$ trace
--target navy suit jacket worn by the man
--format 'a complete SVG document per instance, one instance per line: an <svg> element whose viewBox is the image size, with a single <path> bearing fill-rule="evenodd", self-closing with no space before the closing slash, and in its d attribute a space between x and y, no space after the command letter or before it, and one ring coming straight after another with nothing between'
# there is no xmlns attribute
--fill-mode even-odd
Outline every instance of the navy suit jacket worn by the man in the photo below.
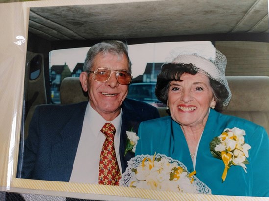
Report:
<svg viewBox="0 0 269 201"><path fill-rule="evenodd" d="M38 106L24 142L21 178L69 181L82 131L88 101L71 105ZM158 110L141 101L125 99L122 103L120 158L122 171L134 154L126 147L126 131L137 133L141 121L159 117Z"/></svg>

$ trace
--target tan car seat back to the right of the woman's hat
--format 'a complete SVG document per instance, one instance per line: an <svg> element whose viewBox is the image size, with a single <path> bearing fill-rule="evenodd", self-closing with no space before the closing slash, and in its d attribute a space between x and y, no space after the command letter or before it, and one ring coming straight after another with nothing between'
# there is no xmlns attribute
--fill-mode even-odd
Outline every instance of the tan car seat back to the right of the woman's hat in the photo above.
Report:
<svg viewBox="0 0 269 201"><path fill-rule="evenodd" d="M269 135L269 77L228 76L232 99L223 111L263 126Z"/></svg>

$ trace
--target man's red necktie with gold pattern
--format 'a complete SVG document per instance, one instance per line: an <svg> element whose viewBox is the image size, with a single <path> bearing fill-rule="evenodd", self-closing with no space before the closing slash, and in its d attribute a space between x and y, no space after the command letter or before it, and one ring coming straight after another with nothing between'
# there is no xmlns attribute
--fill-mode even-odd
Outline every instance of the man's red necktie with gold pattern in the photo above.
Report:
<svg viewBox="0 0 269 201"><path fill-rule="evenodd" d="M98 183L103 185L119 185L121 172L118 166L114 146L116 129L112 123L106 123L102 127L101 132L106 136L106 139L100 156Z"/></svg>

